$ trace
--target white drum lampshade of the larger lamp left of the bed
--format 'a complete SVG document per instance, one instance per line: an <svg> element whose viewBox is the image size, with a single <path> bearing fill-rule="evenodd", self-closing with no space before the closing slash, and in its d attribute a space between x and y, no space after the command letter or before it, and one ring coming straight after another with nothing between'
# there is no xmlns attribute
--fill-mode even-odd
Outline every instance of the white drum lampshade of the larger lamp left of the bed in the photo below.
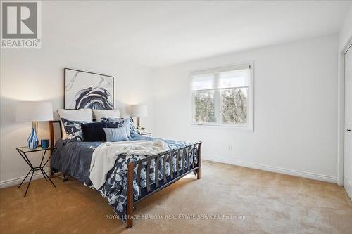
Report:
<svg viewBox="0 0 352 234"><path fill-rule="evenodd" d="M37 122L53 120L53 105L50 102L20 101L16 106L16 121Z"/></svg>

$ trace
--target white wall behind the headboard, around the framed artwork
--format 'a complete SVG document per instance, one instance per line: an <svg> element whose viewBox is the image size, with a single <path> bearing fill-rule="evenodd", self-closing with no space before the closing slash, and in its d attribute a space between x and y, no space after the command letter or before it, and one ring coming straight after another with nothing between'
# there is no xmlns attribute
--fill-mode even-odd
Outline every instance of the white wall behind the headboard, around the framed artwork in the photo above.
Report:
<svg viewBox="0 0 352 234"><path fill-rule="evenodd" d="M63 11L61 11L63 12ZM42 22L51 20L56 13L54 6L45 3L42 6ZM65 15L67 18L68 15ZM66 19L67 20L67 19ZM73 19L74 20L74 19ZM52 22L52 23L55 23ZM0 187L20 182L29 167L15 151L25 145L30 134L31 123L15 122L15 103L18 100L49 100L56 110L63 108L63 68L72 67L111 74L115 76L115 108L123 113L125 105L146 103L149 111L153 103L148 98L150 92L151 69L124 58L116 53L100 53L99 48L85 46L84 37L81 44L56 39L56 34L70 34L65 27L43 23L41 49L1 49L1 133L0 133ZM60 31L55 29L60 28ZM113 41L111 41L112 43ZM152 129L151 118L142 119L142 124ZM39 138L48 138L47 122L39 124ZM39 164L40 155L32 154L30 159Z"/></svg>

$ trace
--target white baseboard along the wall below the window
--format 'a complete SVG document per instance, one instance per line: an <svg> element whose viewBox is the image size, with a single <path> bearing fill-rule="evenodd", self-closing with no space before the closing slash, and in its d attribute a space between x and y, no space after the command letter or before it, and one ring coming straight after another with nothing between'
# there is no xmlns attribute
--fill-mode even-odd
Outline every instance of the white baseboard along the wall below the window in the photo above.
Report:
<svg viewBox="0 0 352 234"><path fill-rule="evenodd" d="M244 162L241 160L228 160L225 158L210 159L208 157L202 157L202 159L208 160L211 162L222 162L222 163L232 164L232 165L241 166L241 167L249 167L249 168L259 169L259 170L263 170L263 171L271 171L271 172L280 173L280 174L287 174L290 176L310 178L310 179L317 180L317 181L337 183L337 177L325 176L322 174L315 174L315 173L310 173L310 172L306 172L306 171L297 171L297 170L286 169L286 168L282 168L282 167L272 167L272 166L257 164L257 163L253 163L253 162Z"/></svg>

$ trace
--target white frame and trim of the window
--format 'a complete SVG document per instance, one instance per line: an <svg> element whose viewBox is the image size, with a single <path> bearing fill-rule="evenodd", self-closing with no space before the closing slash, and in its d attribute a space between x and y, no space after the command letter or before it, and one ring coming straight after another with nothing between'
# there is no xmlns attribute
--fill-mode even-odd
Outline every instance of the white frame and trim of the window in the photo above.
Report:
<svg viewBox="0 0 352 234"><path fill-rule="evenodd" d="M248 86L248 96L247 96L247 123L246 124L220 124L220 123L197 123L193 122L194 119L194 92L191 89L191 82L192 77L197 74L208 74L208 73L215 73L215 72L226 72L230 70L237 70L238 67L243 67L249 65L249 86ZM216 79L218 80L218 79ZM222 67L211 67L201 70L193 70L189 74L189 84L190 84L190 103L191 103L191 125L192 126L220 126L220 127L230 127L234 129L244 130L244 131L254 131L254 62L246 62L246 63L236 63L231 65L225 65ZM238 87L241 88L241 87ZM220 101L220 89L215 89L214 93L214 102L215 106L219 106ZM217 104L218 103L218 104ZM215 108L215 118L220 118L219 110Z"/></svg>

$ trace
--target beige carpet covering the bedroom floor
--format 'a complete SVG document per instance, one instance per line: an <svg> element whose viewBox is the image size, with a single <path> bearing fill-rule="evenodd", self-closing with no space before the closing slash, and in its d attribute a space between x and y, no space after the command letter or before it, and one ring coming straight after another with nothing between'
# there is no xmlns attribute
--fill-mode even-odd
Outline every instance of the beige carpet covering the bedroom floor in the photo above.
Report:
<svg viewBox="0 0 352 234"><path fill-rule="evenodd" d="M200 181L187 176L139 203L141 217L130 229L109 219L106 200L75 180L54 178L57 188L33 181L27 197L25 186L4 188L0 232L352 233L352 202L336 184L210 162L202 172ZM142 219L148 214L179 219ZM224 214L230 219L218 219Z"/></svg>

